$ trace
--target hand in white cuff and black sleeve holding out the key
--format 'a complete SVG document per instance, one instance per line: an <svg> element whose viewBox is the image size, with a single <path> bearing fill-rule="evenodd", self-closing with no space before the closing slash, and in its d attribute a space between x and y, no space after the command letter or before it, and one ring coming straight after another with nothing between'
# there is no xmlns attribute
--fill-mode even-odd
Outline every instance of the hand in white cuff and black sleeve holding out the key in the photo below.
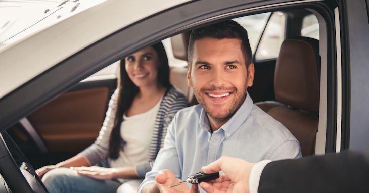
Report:
<svg viewBox="0 0 369 193"><path fill-rule="evenodd" d="M223 171L218 179L209 182L201 182L200 186L207 192L245 192L249 193L249 176L254 163L245 160L221 157L217 161L202 167L205 173Z"/></svg>

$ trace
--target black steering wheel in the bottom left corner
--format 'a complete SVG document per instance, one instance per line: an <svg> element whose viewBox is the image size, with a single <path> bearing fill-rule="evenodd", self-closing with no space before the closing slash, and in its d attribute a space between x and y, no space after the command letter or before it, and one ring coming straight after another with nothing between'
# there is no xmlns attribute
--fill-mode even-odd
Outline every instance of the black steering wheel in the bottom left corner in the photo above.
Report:
<svg viewBox="0 0 369 193"><path fill-rule="evenodd" d="M5 179L6 192L7 188L12 192L48 192L27 158L6 132L0 134L0 174Z"/></svg>

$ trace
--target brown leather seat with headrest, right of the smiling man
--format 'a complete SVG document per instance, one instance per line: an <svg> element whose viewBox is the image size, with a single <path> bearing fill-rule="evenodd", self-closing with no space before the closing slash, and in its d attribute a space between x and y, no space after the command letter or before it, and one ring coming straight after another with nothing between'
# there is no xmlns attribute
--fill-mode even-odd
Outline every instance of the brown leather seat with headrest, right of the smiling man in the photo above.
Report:
<svg viewBox="0 0 369 193"><path fill-rule="evenodd" d="M275 66L276 101L256 103L280 121L300 142L303 156L313 155L319 122L319 41L286 39Z"/></svg>

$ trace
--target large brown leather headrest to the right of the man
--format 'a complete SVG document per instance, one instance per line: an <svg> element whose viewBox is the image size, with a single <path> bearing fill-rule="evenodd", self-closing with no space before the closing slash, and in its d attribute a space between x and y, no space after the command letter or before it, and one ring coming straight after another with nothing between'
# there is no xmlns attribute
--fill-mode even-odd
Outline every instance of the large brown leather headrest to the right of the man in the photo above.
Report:
<svg viewBox="0 0 369 193"><path fill-rule="evenodd" d="M308 37L286 39L276 61L275 99L293 108L319 111L319 41Z"/></svg>

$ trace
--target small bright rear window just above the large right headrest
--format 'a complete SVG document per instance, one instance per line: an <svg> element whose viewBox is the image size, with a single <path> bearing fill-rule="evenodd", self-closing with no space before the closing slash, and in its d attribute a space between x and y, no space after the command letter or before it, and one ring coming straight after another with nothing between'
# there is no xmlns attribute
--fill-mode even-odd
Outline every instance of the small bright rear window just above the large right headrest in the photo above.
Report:
<svg viewBox="0 0 369 193"><path fill-rule="evenodd" d="M314 14L307 15L302 20L301 36L319 40L319 23Z"/></svg>

